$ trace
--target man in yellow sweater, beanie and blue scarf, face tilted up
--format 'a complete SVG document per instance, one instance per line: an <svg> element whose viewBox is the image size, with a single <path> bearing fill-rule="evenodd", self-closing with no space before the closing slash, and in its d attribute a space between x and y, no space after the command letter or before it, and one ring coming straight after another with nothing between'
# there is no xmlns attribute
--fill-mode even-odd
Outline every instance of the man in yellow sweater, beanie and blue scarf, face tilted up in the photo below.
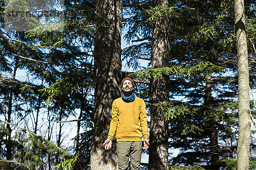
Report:
<svg viewBox="0 0 256 170"><path fill-rule="evenodd" d="M135 96L134 86L132 79L122 80L122 97L113 101L108 139L103 144L105 149L109 150L116 133L119 170L128 170L129 156L131 170L140 170L142 148L148 149L149 146L146 105L143 99Z"/></svg>

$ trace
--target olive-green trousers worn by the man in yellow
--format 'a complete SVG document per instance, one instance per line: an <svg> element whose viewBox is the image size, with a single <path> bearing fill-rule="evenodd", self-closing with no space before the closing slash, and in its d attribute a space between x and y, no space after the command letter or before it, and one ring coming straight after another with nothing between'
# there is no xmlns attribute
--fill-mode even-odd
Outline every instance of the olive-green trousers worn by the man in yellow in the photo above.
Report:
<svg viewBox="0 0 256 170"><path fill-rule="evenodd" d="M129 156L131 156L131 170L140 170L141 151L142 141L116 142L118 170L128 170Z"/></svg>

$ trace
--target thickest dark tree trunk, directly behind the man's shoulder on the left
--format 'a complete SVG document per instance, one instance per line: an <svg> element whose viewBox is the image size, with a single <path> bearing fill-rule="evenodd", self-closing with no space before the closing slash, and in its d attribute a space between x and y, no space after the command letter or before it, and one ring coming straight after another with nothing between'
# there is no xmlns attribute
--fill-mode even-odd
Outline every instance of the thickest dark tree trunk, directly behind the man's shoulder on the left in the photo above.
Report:
<svg viewBox="0 0 256 170"><path fill-rule="evenodd" d="M116 142L105 150L114 99L121 96L122 0L97 0L96 13L108 26L96 25L94 45L94 129L90 147L91 170L116 170Z"/></svg>

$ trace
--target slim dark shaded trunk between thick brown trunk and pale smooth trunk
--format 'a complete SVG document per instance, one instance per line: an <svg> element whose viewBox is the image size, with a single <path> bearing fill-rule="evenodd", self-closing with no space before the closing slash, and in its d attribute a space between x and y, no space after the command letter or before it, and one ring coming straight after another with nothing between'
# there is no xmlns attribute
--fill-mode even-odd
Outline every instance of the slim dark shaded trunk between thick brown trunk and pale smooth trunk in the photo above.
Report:
<svg viewBox="0 0 256 170"><path fill-rule="evenodd" d="M212 76L206 75L205 77L205 94L204 94L204 105L212 106ZM210 163L211 170L219 170L218 165L219 154L218 154L218 131L216 119L209 120L209 149L210 149Z"/></svg>

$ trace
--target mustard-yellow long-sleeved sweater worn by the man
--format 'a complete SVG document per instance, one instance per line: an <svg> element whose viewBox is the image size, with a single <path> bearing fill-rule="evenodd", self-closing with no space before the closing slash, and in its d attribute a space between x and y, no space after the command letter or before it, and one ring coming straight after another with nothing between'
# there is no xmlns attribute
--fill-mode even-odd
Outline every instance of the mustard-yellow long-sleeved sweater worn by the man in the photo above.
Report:
<svg viewBox="0 0 256 170"><path fill-rule="evenodd" d="M143 99L135 97L133 102L124 102L122 97L115 99L112 104L112 119L108 139L116 141L141 141L148 138L146 105Z"/></svg>

